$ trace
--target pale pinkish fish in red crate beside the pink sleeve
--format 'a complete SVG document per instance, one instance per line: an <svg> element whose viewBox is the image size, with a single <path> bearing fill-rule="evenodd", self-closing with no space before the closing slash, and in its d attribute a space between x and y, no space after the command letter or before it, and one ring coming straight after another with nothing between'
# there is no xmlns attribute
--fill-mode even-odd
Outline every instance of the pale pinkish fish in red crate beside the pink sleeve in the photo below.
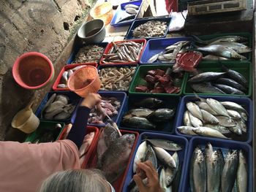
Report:
<svg viewBox="0 0 256 192"><path fill-rule="evenodd" d="M89 147L91 146L91 142L94 139L94 135L95 135L95 132L92 131L91 133L86 134L86 136L83 138L83 144L80 146L80 149L79 149L79 154L80 154L79 162L80 162L80 165L83 164L83 161L86 158L86 153L88 152Z"/></svg>

